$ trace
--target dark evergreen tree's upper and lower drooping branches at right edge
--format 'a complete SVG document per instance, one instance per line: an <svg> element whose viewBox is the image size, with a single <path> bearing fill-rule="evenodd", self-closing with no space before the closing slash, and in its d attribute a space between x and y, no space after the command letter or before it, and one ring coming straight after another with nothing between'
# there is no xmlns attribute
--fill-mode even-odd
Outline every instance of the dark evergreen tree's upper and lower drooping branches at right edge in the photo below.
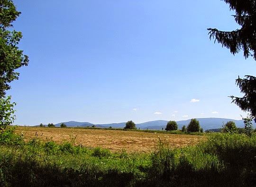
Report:
<svg viewBox="0 0 256 187"><path fill-rule="evenodd" d="M227 47L232 54L244 51L247 59L252 56L256 60L256 1L255 0L224 0L229 4L230 10L235 11L235 21L241 26L234 31L219 31L216 28L208 28L210 39L215 38L215 42ZM250 112L250 116L256 122L256 77L245 76L241 79L238 76L236 85L240 87L243 97L230 96L232 102L239 106L243 111Z"/></svg>

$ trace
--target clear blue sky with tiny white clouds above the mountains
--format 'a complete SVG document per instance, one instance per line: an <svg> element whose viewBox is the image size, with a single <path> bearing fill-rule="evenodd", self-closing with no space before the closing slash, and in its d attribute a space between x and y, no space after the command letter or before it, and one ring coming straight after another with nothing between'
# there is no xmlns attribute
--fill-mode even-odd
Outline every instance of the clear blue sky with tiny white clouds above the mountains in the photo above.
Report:
<svg viewBox="0 0 256 187"><path fill-rule="evenodd" d="M256 62L209 40L239 26L220 0L14 0L29 65L11 83L18 125L241 119L228 96Z"/></svg>

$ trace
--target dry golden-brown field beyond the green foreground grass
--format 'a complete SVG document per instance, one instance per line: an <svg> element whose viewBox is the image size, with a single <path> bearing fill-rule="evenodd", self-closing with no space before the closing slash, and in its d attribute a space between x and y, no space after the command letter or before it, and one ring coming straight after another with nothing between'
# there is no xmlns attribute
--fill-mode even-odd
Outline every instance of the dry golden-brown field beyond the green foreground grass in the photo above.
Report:
<svg viewBox="0 0 256 187"><path fill-rule="evenodd" d="M167 141L170 147L184 147L196 144L203 136L171 135L160 133L133 132L106 129L56 128L56 127L16 127L15 134L25 137L25 140L38 138L42 141L53 140L56 143L75 142L87 147L102 147L112 152L125 149L128 153L154 150L159 138Z"/></svg>

